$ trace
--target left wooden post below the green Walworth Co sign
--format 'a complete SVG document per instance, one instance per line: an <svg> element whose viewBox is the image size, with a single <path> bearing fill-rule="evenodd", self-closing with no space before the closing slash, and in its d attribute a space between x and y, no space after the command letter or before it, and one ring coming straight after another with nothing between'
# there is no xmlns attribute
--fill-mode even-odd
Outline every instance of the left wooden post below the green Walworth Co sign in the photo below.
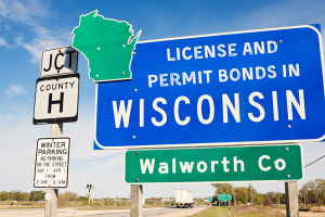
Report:
<svg viewBox="0 0 325 217"><path fill-rule="evenodd" d="M131 184L130 217L142 217L142 184Z"/></svg>

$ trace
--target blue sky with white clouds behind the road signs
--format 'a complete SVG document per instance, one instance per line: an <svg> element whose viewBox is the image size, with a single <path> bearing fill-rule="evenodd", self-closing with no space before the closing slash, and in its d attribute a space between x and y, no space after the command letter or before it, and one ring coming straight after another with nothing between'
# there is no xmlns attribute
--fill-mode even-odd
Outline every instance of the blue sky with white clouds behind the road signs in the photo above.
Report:
<svg viewBox="0 0 325 217"><path fill-rule="evenodd" d="M72 30L79 16L99 10L106 18L128 21L141 40L251 30L306 24L325 26L325 2L285 0L214 1L40 1L0 0L0 191L31 191L36 141L50 136L50 125L32 125L36 80L46 49L72 44ZM324 37L323 37L324 40ZM125 150L93 150L95 85L89 80L88 62L79 55L79 118L64 124L63 136L72 138L69 187L93 196L129 196L123 182ZM304 164L325 154L324 142L303 143ZM325 178L325 159L309 166L298 188ZM247 187L248 182L235 183ZM259 192L284 192L284 182L255 182ZM144 197L174 196L176 189L188 189L195 197L213 194L208 183L144 186Z"/></svg>

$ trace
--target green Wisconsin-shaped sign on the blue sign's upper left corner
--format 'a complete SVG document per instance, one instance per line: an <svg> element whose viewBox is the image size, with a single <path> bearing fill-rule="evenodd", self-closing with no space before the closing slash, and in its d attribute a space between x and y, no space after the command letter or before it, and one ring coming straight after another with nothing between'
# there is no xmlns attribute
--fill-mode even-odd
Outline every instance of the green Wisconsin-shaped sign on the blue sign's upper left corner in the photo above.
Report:
<svg viewBox="0 0 325 217"><path fill-rule="evenodd" d="M131 79L131 62L135 43L128 22L104 18L98 10L80 16L73 30L73 47L88 60L89 78L94 82Z"/></svg>

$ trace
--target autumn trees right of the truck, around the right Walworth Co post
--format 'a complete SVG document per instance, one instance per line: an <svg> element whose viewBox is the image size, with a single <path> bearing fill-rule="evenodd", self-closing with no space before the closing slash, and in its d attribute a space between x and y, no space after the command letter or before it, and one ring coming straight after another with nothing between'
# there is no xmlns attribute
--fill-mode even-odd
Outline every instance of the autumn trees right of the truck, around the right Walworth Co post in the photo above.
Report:
<svg viewBox="0 0 325 217"><path fill-rule="evenodd" d="M233 203L247 204L250 203L249 187L235 187L232 189L227 183L213 183L216 188L213 202L217 201L218 194L232 194ZM280 192L266 192L259 193L253 187L251 187L252 203L257 205L272 206L273 204L285 204L286 194ZM303 203L304 196L307 203L324 203L325 202L325 179L315 179L309 181L302 186L299 190L298 199L300 203Z"/></svg>

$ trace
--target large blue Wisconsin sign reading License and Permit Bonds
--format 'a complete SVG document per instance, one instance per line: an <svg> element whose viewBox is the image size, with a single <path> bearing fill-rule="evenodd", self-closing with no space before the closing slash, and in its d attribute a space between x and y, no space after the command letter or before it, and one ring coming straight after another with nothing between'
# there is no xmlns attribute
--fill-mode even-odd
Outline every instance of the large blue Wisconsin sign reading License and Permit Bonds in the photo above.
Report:
<svg viewBox="0 0 325 217"><path fill-rule="evenodd" d="M324 139L320 25L141 41L131 71L96 85L94 149Z"/></svg>

